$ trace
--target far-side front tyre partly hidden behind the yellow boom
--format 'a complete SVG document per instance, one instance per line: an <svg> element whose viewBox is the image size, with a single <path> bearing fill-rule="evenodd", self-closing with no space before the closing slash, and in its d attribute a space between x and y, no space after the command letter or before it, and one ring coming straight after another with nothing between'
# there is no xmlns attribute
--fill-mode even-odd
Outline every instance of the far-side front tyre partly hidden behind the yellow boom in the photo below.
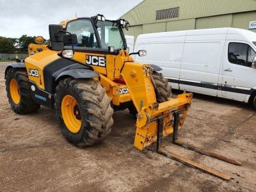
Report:
<svg viewBox="0 0 256 192"><path fill-rule="evenodd" d="M165 102L169 97L172 97L172 86L168 84L168 80L159 72L152 74L154 83L156 84L156 100L158 103ZM137 115L137 110L133 104L129 106L129 112L132 116Z"/></svg>

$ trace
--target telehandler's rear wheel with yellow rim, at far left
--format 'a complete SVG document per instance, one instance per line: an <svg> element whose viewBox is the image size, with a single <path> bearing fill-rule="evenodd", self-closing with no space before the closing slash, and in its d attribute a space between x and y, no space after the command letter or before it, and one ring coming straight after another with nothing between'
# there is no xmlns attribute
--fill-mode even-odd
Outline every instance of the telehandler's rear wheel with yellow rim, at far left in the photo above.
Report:
<svg viewBox="0 0 256 192"><path fill-rule="evenodd" d="M9 103L15 113L32 113L40 108L40 104L36 104L32 99L25 70L10 68L6 73L5 84Z"/></svg>

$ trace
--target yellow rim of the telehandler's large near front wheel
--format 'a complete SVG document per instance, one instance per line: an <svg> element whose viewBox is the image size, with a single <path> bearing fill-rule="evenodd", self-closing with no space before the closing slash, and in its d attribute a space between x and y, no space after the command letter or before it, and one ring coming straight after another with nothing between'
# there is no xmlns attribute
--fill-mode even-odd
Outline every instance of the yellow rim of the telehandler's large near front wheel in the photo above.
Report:
<svg viewBox="0 0 256 192"><path fill-rule="evenodd" d="M80 109L76 99L71 95L63 97L61 101L61 115L70 132L76 133L80 130L82 124Z"/></svg>

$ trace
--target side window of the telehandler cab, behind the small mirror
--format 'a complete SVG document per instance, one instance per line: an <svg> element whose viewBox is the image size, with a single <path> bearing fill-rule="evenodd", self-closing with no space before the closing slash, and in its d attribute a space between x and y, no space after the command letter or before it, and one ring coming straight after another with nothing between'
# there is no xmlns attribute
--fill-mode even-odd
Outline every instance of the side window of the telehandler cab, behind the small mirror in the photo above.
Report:
<svg viewBox="0 0 256 192"><path fill-rule="evenodd" d="M67 31L77 36L74 47L98 48L92 22L88 19L79 19L68 22Z"/></svg>

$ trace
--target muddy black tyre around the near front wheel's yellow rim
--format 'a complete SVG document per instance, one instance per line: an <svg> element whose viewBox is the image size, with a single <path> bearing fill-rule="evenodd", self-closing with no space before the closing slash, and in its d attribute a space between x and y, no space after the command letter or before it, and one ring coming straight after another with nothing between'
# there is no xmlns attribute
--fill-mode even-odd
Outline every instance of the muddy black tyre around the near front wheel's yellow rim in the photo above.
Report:
<svg viewBox="0 0 256 192"><path fill-rule="evenodd" d="M77 94L79 104L85 112L85 120L82 122L83 134L77 142L72 139L72 132L67 130L61 116L60 93L70 90ZM68 141L78 147L95 145L104 140L110 133L113 125L113 109L110 106L111 99L106 95L99 81L93 79L63 79L56 87L54 95L56 101L56 116L61 124L61 130Z"/></svg>

